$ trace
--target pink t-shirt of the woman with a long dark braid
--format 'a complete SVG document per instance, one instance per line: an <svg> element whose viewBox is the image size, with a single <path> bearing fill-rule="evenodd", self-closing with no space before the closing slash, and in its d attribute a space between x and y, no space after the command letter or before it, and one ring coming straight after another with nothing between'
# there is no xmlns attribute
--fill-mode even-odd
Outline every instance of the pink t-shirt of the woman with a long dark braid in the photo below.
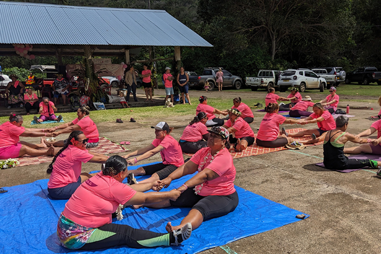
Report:
<svg viewBox="0 0 381 254"><path fill-rule="evenodd" d="M93 157L89 151L69 145L54 162L48 187L52 189L76 183L82 171L82 162L86 163Z"/></svg>

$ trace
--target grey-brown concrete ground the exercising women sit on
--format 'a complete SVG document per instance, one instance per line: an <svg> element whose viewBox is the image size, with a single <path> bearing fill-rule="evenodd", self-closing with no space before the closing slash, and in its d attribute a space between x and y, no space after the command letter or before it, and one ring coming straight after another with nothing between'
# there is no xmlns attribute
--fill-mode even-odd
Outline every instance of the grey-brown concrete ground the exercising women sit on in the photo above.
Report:
<svg viewBox="0 0 381 254"><path fill-rule="evenodd" d="M191 90L190 93L191 96L205 94L210 100L239 96L243 102L247 97L265 96L265 92L242 93L236 90L222 93L213 91L207 94ZM310 95L315 101L324 97L318 92L302 95ZM350 99L353 97L342 96L340 105L346 106L349 103L353 107L374 108L350 110L350 114L356 116L350 118L348 131L357 134L371 125L373 121L365 117L376 115L379 106L376 103L377 96L366 98L373 99L370 104L351 102ZM255 132L263 115L263 112L255 112L255 122L250 124ZM103 122L97 125L100 135L114 141L130 141L131 145L128 148L136 150L150 144L154 139L151 125L160 120L167 121L170 126L175 127L172 135L178 140L193 116L194 112L190 112L189 115L181 117L169 115L166 119L151 118L136 123ZM284 126L291 129L300 125ZM316 125L309 124L304 128L313 129ZM66 136L60 138L64 139ZM37 138L22 140L39 141ZM121 155L123 154L126 153ZM302 151L287 150L235 159L237 186L311 216L303 221L231 242L227 244L230 250L216 247L203 253L379 253L381 220L378 218L378 212L381 211L381 197L378 191L381 179L375 177L374 170L344 174L315 166L315 163L322 161L322 157L323 147L314 146ZM142 163L159 160L160 155L155 155ZM48 164L41 164L1 170L0 186L19 185L48 178L45 173L47 166ZM85 172L96 169L100 169L99 165L83 165ZM224 248L226 249L226 246Z"/></svg>

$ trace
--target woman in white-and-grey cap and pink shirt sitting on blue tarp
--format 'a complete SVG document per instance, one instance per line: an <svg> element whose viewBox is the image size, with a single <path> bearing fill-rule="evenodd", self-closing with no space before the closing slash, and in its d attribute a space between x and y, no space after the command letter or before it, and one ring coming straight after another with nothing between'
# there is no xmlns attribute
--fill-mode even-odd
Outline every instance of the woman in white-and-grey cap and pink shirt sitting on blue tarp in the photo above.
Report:
<svg viewBox="0 0 381 254"><path fill-rule="evenodd" d="M134 176L152 175L150 178L143 180L141 183L151 183L156 180L162 180L184 164L181 147L179 143L170 135L173 128L169 128L168 123L165 121L161 121L156 126L151 126L151 128L155 129L156 136L156 139L152 142L152 144L123 156L125 159L137 156L128 161L129 165L134 165L160 152L163 160L162 163L140 167L136 170L129 171L129 179L134 179ZM130 181L129 183L131 184L132 182Z"/></svg>

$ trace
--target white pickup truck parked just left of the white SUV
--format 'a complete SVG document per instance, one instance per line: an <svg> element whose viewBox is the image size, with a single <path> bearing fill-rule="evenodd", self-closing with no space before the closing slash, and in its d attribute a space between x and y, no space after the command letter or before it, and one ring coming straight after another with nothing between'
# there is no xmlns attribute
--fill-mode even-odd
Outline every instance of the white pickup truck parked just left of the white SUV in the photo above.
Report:
<svg viewBox="0 0 381 254"><path fill-rule="evenodd" d="M250 86L251 91L257 91L258 88L269 90L271 87L279 87L278 79L282 71L260 70L258 77L246 77L246 86Z"/></svg>

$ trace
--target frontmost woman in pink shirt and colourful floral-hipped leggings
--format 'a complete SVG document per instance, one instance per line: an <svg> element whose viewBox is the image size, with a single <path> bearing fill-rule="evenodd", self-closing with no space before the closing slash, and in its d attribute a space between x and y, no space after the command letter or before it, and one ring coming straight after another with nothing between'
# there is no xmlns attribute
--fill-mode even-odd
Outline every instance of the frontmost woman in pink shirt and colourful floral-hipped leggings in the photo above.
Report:
<svg viewBox="0 0 381 254"><path fill-rule="evenodd" d="M86 180L74 192L58 219L57 236L64 247L93 250L118 245L131 248L177 246L190 237L191 223L168 233L156 233L112 223L115 211L117 219L123 219L123 205L176 200L181 193L179 190L144 193L161 189L159 181L131 186L123 184L122 181L128 175L126 169L125 159L114 155L106 161L101 172ZM166 228L171 228L171 224L168 223Z"/></svg>

